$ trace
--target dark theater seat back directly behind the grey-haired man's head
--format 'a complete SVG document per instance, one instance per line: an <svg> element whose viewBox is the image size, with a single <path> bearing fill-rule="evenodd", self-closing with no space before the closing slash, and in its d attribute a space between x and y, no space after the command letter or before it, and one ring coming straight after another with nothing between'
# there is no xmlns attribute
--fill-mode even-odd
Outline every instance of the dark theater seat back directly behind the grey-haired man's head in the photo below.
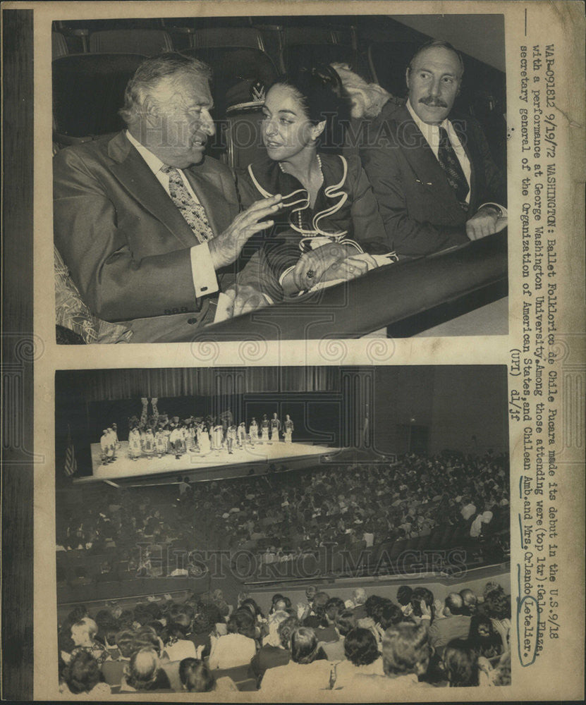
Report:
<svg viewBox="0 0 586 705"><path fill-rule="evenodd" d="M93 140L124 127L118 110L124 90L145 56L71 54L53 62L54 141Z"/></svg>

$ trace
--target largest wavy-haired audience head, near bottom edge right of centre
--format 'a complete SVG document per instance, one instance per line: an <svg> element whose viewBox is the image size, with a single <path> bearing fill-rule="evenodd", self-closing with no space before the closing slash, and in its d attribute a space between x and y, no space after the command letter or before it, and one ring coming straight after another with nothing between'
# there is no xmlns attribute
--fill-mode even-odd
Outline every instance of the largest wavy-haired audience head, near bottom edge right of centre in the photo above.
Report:
<svg viewBox="0 0 586 705"><path fill-rule="evenodd" d="M423 675L429 664L427 626L401 623L384 632L383 669L386 675Z"/></svg>

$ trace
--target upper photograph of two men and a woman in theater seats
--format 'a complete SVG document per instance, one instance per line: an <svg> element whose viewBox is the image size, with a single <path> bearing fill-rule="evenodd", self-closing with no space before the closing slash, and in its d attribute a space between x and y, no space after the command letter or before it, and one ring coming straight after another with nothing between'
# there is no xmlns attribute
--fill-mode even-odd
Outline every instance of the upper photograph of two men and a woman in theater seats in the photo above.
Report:
<svg viewBox="0 0 586 705"><path fill-rule="evenodd" d="M501 14L52 23L56 341L508 334Z"/></svg>

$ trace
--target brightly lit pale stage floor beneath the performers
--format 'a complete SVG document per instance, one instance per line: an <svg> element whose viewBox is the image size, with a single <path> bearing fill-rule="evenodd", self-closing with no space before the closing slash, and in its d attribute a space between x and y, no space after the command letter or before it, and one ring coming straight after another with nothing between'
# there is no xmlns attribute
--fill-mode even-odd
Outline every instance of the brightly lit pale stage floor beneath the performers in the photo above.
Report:
<svg viewBox="0 0 586 705"><path fill-rule="evenodd" d="M88 482L92 480L114 480L123 477L139 477L145 475L157 475L168 473L189 473L197 477L203 474L205 477L214 468L222 468L223 477L230 477L226 470L233 469L234 476L245 474L243 471L248 467L257 465L269 465L274 463L277 467L286 461L306 459L317 459L320 455L335 453L338 448L326 448L324 446L310 446L305 443L283 443L282 441L255 443L251 446L247 443L243 448L234 446L233 453L228 450L210 450L205 455L200 453L185 453L181 458L174 455L164 455L162 458L138 458L132 460L128 455L128 442L122 441L121 448L116 453L116 460L107 465L102 464L102 448L99 443L92 443L92 470L91 477L80 477L76 482ZM194 472L195 471L195 472ZM201 472L198 472L201 471ZM262 472L262 469L260 470ZM212 473L216 474L216 473ZM202 478L203 479L203 478ZM210 478L211 479L211 478Z"/></svg>

